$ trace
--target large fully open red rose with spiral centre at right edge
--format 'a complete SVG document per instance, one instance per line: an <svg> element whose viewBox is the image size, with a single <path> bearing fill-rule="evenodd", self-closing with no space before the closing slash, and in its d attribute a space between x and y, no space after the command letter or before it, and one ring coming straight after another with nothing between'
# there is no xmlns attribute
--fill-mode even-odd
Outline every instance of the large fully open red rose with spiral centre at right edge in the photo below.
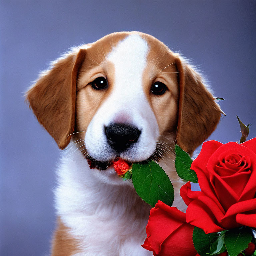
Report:
<svg viewBox="0 0 256 256"><path fill-rule="evenodd" d="M181 187L187 222L205 233L256 227L256 138L242 144L207 141L191 169L201 192L191 191L190 182Z"/></svg>

